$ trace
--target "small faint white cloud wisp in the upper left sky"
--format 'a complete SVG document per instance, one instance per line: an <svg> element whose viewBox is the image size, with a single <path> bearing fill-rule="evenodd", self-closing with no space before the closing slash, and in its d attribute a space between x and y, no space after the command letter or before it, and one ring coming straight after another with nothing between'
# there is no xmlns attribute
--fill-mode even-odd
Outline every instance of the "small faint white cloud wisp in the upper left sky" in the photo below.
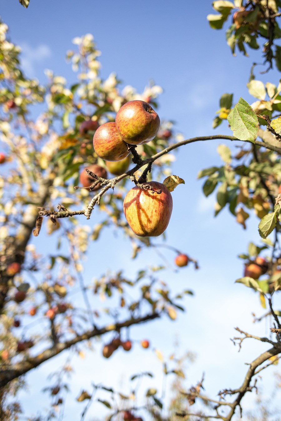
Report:
<svg viewBox="0 0 281 421"><path fill-rule="evenodd" d="M29 77L35 76L35 67L45 59L51 57L51 49L46 44L35 47L29 43L21 43L21 66Z"/></svg>

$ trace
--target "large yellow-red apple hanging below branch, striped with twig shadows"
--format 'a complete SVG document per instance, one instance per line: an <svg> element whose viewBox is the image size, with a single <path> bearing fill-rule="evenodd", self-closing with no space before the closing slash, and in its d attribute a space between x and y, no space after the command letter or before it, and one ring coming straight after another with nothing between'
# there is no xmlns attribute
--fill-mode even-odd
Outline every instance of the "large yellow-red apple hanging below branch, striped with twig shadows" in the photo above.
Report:
<svg viewBox="0 0 281 421"><path fill-rule="evenodd" d="M146 184L146 183L144 183ZM158 237L167 228L173 209L173 199L164 184L150 181L150 186L161 190L158 195L151 190L133 187L123 202L126 220L132 231L140 237Z"/></svg>

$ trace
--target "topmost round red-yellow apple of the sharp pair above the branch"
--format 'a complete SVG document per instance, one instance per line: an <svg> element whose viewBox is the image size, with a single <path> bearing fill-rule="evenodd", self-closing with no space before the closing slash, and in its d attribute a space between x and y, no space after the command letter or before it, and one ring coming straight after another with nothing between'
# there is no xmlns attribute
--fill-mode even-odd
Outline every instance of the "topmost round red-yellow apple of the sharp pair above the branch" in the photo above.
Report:
<svg viewBox="0 0 281 421"><path fill-rule="evenodd" d="M155 138L160 127L157 112L145 101L129 101L116 114L115 123L122 139L130 145L143 145Z"/></svg>

